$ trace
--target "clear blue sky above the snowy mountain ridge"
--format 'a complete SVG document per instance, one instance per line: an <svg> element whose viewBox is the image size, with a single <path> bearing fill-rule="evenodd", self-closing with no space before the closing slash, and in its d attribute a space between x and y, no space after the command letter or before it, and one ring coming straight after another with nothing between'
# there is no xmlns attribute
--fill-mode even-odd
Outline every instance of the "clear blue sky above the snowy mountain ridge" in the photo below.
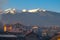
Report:
<svg viewBox="0 0 60 40"><path fill-rule="evenodd" d="M60 12L60 0L6 0L2 9L16 8L22 9L46 9Z"/></svg>

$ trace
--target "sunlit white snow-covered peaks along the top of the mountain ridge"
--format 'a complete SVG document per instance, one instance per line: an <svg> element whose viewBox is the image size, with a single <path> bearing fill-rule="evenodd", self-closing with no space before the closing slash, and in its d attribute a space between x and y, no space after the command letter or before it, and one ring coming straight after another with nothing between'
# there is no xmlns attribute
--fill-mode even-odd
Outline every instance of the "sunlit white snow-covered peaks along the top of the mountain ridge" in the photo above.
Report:
<svg viewBox="0 0 60 40"><path fill-rule="evenodd" d="M45 12L46 10L42 10L42 9L31 9L31 10L27 10L27 9L23 9L23 10L20 10L20 13L24 13L24 12L29 12L29 13L36 13L36 12ZM8 8L6 10L4 10L4 13L7 14L7 13L11 13L11 14L15 14L16 12L18 12L15 8Z"/></svg>

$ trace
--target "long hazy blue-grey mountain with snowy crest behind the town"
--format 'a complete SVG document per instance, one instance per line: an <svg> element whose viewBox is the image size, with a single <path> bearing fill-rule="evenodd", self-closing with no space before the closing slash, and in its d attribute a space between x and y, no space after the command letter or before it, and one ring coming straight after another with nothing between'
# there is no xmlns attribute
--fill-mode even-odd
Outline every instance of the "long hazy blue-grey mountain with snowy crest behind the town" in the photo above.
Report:
<svg viewBox="0 0 60 40"><path fill-rule="evenodd" d="M60 13L48 10L32 9L32 10L19 10L9 9L16 11L3 13L1 15L1 22L3 23L23 23L25 25L60 25ZM5 10L6 11L6 10ZM13 14L13 15L12 15Z"/></svg>

